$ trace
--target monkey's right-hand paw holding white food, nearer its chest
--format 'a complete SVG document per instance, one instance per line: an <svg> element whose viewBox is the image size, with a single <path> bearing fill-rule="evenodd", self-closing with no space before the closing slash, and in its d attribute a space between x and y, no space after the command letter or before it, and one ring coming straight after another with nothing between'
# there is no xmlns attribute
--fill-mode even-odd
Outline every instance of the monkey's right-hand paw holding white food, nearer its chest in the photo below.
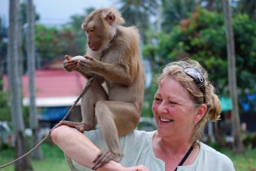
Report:
<svg viewBox="0 0 256 171"><path fill-rule="evenodd" d="M84 58L84 60L78 62L78 68L84 72L92 72L100 63L100 61L91 56L84 56Z"/></svg>

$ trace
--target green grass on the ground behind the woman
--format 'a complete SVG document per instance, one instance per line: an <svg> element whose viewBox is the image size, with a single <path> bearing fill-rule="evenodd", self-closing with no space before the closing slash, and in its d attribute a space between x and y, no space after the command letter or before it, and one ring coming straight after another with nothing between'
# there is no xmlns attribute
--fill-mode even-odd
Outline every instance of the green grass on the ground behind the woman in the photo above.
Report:
<svg viewBox="0 0 256 171"><path fill-rule="evenodd" d="M219 149L214 147L221 153L227 155L234 163L236 171L256 171L256 149L246 149L243 155L233 154L231 149ZM63 156L63 152L56 145L43 143L42 150L44 151L43 161L32 161L32 166L35 171L68 171L68 165ZM0 165L4 165L13 160L14 149L7 148L0 150ZM2 169L3 171L13 171L14 165L10 165ZM2 171L1 170L1 171Z"/></svg>

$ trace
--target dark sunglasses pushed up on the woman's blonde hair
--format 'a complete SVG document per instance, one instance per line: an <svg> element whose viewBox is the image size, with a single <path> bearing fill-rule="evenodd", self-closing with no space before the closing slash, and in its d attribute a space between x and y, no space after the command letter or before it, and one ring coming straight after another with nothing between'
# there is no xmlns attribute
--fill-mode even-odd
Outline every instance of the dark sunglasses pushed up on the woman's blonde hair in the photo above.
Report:
<svg viewBox="0 0 256 171"><path fill-rule="evenodd" d="M184 68L183 71L184 71L184 73L186 73L186 75L193 78L197 87L204 94L204 103L205 103L205 84L204 84L205 81L204 81L204 77L202 77L200 71L196 70L193 67L186 67L186 68Z"/></svg>

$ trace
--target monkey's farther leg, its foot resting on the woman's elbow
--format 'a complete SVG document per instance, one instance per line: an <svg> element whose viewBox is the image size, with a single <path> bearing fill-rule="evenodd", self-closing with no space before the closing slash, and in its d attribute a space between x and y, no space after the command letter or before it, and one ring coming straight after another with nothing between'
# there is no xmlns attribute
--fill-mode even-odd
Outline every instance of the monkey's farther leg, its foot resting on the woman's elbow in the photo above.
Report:
<svg viewBox="0 0 256 171"><path fill-rule="evenodd" d="M93 130L95 129L95 104L99 100L108 100L108 94L95 78L92 80L92 85L86 91L84 96L81 99L81 113L83 121L81 123L74 123L70 121L61 121L58 126L66 125L72 128L76 128L81 133L84 130Z"/></svg>

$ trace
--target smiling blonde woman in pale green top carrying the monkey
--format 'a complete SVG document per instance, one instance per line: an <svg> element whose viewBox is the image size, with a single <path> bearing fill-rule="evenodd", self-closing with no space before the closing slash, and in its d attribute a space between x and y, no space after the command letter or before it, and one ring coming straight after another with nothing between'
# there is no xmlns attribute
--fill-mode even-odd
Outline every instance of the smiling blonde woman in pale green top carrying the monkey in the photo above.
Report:
<svg viewBox="0 0 256 171"><path fill-rule="evenodd" d="M207 121L217 121L221 112L204 68L189 59L170 63L157 84L152 105L157 131L121 137L123 160L98 170L235 170L227 156L200 142ZM100 149L107 148L99 130L84 136L61 126L52 131L52 140L72 158L67 158L72 170L92 168Z"/></svg>

